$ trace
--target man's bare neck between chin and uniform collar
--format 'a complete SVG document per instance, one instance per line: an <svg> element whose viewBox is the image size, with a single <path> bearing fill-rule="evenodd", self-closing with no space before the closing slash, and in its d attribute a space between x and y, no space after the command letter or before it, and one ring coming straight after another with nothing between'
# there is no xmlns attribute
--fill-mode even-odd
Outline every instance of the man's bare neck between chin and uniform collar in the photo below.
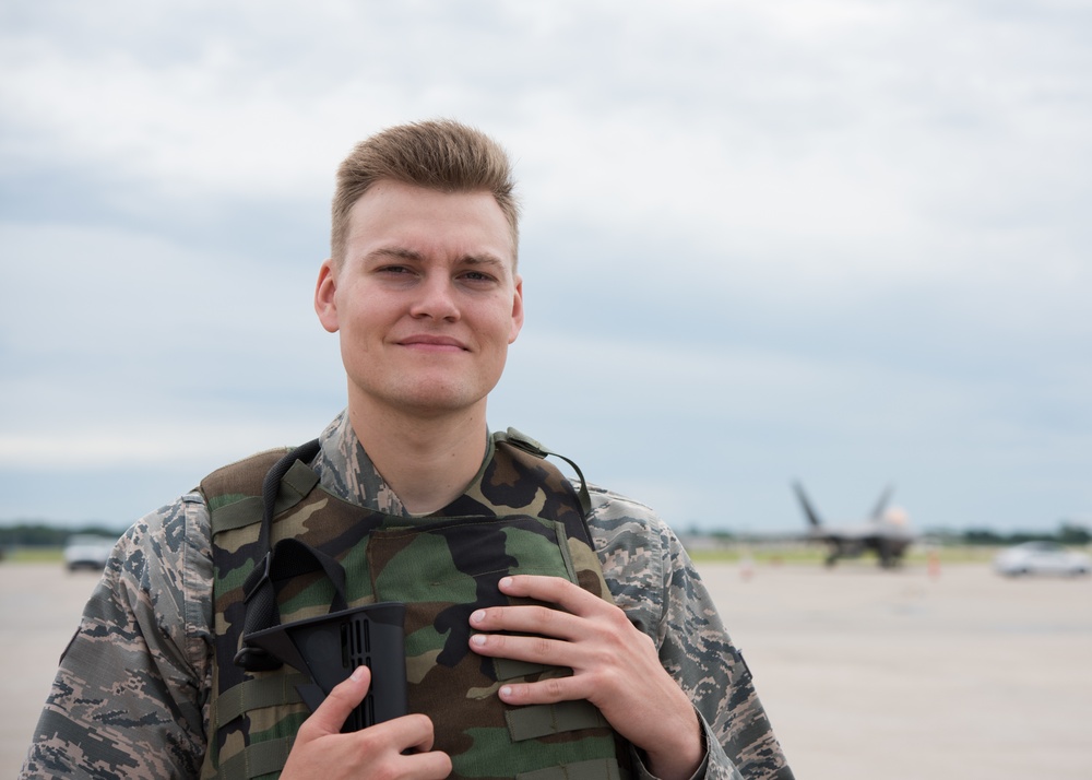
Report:
<svg viewBox="0 0 1092 780"><path fill-rule="evenodd" d="M413 515L461 496L485 458L485 404L459 415L411 417L354 409L349 423L383 481Z"/></svg>

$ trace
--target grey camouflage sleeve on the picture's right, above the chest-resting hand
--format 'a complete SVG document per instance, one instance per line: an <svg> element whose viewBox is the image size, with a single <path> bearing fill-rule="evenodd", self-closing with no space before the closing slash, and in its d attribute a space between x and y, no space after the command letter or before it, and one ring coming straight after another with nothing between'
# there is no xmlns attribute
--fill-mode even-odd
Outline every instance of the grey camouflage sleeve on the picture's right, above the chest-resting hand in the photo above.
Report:
<svg viewBox="0 0 1092 780"><path fill-rule="evenodd" d="M792 780L750 671L666 523L643 505L594 488L589 528L615 602L655 641L702 721L708 749L696 777Z"/></svg>

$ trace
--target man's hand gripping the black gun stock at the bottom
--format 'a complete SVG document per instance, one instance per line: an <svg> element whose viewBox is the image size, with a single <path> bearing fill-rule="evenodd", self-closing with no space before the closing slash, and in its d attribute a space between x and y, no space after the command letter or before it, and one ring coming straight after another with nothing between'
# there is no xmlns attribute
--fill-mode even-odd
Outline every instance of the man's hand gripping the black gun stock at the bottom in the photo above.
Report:
<svg viewBox="0 0 1092 780"><path fill-rule="evenodd" d="M432 721L408 714L342 734L345 719L371 685L371 672L357 666L353 675L330 692L325 701L304 721L296 734L282 780L317 778L414 778L441 780L451 773L451 758L432 749ZM413 751L403 755L404 751Z"/></svg>

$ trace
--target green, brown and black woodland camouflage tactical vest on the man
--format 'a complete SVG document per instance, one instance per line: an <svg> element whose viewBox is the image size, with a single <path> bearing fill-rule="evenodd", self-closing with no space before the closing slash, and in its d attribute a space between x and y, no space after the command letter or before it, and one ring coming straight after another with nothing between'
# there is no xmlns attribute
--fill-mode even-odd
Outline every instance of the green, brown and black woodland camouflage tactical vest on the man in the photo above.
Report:
<svg viewBox="0 0 1092 780"><path fill-rule="evenodd" d="M495 435L480 480L427 518L344 501L296 460L275 493L269 541L297 539L340 562L349 607L405 604L408 708L431 718L434 749L451 757L451 777L627 778L627 746L590 702L512 707L497 696L503 683L571 670L470 650L471 613L515 603L498 589L507 575L563 577L610 600L584 522L586 493L578 496L536 442L510 434ZM253 456L201 482L212 518L215 633L202 778L277 777L310 714L297 689L306 675L287 665L251 673L233 663L242 640L244 581L265 555L262 481L283 456ZM321 571L294 577L277 596L281 621L323 615L332 598Z"/></svg>

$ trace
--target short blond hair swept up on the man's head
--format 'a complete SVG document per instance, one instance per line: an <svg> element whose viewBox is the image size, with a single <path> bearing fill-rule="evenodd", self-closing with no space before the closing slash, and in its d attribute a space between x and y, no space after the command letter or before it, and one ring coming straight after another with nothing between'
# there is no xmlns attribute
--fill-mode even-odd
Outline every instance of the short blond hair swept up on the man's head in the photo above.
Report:
<svg viewBox="0 0 1092 780"><path fill-rule="evenodd" d="M511 228L513 260L518 256L520 204L508 153L480 130L435 119L382 130L342 162L331 206L330 252L335 263L345 259L353 205L384 179L440 192L489 192Z"/></svg>

